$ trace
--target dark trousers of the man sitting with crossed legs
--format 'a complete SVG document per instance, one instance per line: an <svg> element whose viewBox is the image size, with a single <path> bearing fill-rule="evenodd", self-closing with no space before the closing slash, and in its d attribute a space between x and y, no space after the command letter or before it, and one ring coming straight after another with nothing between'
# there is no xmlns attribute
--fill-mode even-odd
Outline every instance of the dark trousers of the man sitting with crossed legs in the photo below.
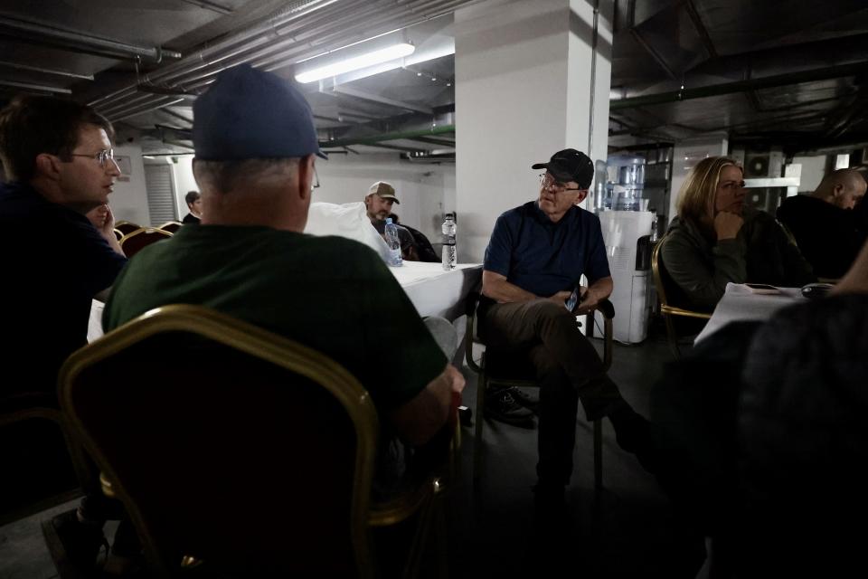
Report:
<svg viewBox="0 0 868 579"><path fill-rule="evenodd" d="M566 308L548 299L492 304L481 312L480 335L498 352L528 356L540 384L541 482L567 484L572 473L579 401L593 421L627 403Z"/></svg>

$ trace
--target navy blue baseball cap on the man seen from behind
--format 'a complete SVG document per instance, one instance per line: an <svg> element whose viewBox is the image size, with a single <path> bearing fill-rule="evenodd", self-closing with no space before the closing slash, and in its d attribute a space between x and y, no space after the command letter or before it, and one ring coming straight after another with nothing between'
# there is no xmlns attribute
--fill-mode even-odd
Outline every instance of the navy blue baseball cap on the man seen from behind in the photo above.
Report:
<svg viewBox="0 0 868 579"><path fill-rule="evenodd" d="M203 161L306 157L319 150L310 105L275 74L240 64L193 104L193 147Z"/></svg>

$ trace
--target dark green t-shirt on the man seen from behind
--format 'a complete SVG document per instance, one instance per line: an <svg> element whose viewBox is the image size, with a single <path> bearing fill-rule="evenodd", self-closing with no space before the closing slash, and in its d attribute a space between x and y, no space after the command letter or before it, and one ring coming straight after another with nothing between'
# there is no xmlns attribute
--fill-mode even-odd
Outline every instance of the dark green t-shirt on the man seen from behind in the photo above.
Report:
<svg viewBox="0 0 868 579"><path fill-rule="evenodd" d="M380 409L410 401L447 363L380 257L342 237L182 227L129 261L103 327L168 304L214 308L331 356Z"/></svg>

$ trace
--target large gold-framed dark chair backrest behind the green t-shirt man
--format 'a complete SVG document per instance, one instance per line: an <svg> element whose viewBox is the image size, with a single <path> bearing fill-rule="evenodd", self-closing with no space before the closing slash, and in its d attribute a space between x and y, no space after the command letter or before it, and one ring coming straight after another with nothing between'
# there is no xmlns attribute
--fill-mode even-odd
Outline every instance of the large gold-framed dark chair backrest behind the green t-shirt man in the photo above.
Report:
<svg viewBox="0 0 868 579"><path fill-rule="evenodd" d="M60 380L71 432L159 573L371 575L377 415L333 360L167 306L80 349Z"/></svg>

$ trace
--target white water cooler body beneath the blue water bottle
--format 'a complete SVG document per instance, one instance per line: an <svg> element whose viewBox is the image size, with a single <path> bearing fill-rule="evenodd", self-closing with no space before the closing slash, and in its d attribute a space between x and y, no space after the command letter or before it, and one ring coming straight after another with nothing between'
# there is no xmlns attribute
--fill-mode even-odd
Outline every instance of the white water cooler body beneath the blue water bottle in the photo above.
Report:
<svg viewBox="0 0 868 579"><path fill-rule="evenodd" d="M648 295L650 259L648 236L654 213L650 211L602 211L599 224L609 258L615 289L609 300L615 307L613 333L618 342L636 344L648 333L651 304ZM603 318L596 314L597 324Z"/></svg>

